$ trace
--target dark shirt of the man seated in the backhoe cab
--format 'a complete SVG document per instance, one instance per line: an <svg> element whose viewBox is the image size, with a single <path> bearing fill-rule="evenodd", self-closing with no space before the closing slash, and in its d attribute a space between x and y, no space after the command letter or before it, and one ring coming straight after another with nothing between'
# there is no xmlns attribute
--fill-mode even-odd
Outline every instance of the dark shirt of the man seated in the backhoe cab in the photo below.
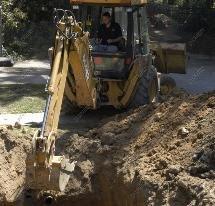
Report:
<svg viewBox="0 0 215 206"><path fill-rule="evenodd" d="M110 27L107 28L104 24L102 24L98 31L98 38L102 40L101 44L103 45L113 45L117 46L119 43L111 43L108 44L108 39L116 39L122 36L122 30L118 23L112 22Z"/></svg>

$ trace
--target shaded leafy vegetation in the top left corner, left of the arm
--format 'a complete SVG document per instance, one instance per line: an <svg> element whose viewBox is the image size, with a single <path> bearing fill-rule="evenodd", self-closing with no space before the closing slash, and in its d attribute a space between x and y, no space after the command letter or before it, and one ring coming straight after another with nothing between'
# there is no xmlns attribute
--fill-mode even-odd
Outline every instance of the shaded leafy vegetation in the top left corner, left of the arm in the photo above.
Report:
<svg viewBox="0 0 215 206"><path fill-rule="evenodd" d="M2 0L4 47L13 57L46 58L52 44L54 8L64 0Z"/></svg>

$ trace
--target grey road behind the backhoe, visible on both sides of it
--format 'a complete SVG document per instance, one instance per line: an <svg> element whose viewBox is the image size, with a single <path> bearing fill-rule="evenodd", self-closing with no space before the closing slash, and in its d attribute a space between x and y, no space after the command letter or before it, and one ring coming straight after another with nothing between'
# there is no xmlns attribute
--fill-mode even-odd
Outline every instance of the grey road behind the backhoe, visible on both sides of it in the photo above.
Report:
<svg viewBox="0 0 215 206"><path fill-rule="evenodd" d="M177 86L191 94L215 90L215 59L190 55L187 74L171 74ZM48 61L25 61L14 68L0 68L0 84L45 84L49 75Z"/></svg>

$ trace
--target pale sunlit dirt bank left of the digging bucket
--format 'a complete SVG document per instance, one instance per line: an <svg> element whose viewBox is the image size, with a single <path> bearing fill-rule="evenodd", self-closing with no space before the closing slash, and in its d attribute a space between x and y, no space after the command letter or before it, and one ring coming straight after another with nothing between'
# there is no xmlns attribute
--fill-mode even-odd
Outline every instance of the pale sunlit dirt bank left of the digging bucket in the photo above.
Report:
<svg viewBox="0 0 215 206"><path fill-rule="evenodd" d="M12 129L0 128L0 205L17 201L24 189L30 139Z"/></svg>

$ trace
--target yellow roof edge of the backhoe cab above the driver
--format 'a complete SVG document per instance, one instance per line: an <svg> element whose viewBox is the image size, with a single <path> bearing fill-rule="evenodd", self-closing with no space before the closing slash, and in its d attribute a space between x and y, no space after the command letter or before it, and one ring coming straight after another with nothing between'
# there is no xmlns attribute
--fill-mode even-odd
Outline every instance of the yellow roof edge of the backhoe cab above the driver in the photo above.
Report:
<svg viewBox="0 0 215 206"><path fill-rule="evenodd" d="M104 6L141 6L147 4L148 0L70 0L71 4L97 4Z"/></svg>

